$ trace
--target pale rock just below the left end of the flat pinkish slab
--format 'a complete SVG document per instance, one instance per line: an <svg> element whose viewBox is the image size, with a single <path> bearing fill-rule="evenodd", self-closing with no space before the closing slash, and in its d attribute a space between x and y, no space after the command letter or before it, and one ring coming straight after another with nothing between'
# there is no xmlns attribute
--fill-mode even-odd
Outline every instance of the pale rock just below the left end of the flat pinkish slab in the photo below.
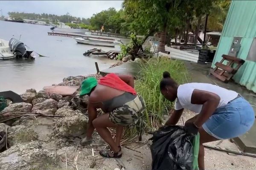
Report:
<svg viewBox="0 0 256 170"><path fill-rule="evenodd" d="M47 99L44 102L37 103L32 108L32 113L43 113L54 115L57 111L57 102L54 99Z"/></svg>

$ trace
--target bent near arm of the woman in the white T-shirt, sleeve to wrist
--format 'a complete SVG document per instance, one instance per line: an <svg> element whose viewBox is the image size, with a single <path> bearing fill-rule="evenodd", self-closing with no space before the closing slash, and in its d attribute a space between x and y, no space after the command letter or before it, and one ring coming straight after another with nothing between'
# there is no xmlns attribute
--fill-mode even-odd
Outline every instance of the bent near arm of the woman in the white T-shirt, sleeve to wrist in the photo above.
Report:
<svg viewBox="0 0 256 170"><path fill-rule="evenodd" d="M203 105L201 112L198 114L194 124L196 127L201 127L204 122L212 116L220 102L220 96L209 91L201 91L195 89L191 96L191 103Z"/></svg>

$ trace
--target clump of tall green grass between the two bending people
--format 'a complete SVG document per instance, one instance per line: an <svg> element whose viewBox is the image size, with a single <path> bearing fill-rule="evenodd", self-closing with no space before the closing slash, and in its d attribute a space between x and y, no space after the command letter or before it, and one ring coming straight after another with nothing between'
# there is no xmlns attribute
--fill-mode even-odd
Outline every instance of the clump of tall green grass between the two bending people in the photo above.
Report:
<svg viewBox="0 0 256 170"><path fill-rule="evenodd" d="M146 111L137 127L126 129L126 136L136 135L141 128L146 131L161 126L163 115L173 107L173 103L165 99L160 92L159 83L163 78L164 71L169 71L171 77L178 84L188 82L187 70L182 61L171 60L166 57L151 58L147 62L144 61L141 64L141 78L135 81L135 89L143 96Z"/></svg>

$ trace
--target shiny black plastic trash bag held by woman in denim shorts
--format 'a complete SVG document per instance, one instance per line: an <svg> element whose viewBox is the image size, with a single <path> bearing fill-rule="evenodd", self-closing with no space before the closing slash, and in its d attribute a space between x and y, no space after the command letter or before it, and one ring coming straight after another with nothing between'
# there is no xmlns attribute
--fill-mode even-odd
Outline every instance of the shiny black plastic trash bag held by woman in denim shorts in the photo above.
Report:
<svg viewBox="0 0 256 170"><path fill-rule="evenodd" d="M178 125L163 126L153 133L150 147L152 170L192 170L194 136Z"/></svg>

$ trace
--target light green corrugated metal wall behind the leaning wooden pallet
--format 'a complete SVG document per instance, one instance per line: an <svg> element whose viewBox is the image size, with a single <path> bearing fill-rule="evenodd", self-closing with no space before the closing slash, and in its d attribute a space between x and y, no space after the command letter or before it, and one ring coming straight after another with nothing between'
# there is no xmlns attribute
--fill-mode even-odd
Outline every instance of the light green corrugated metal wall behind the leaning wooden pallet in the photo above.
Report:
<svg viewBox="0 0 256 170"><path fill-rule="evenodd" d="M247 61L247 55L256 37L256 1L233 0L227 14L217 51L212 62L221 61L222 54L228 54L233 37L242 37L241 48L237 57L244 59L245 63L239 68L233 79L240 85L256 93L256 62Z"/></svg>

